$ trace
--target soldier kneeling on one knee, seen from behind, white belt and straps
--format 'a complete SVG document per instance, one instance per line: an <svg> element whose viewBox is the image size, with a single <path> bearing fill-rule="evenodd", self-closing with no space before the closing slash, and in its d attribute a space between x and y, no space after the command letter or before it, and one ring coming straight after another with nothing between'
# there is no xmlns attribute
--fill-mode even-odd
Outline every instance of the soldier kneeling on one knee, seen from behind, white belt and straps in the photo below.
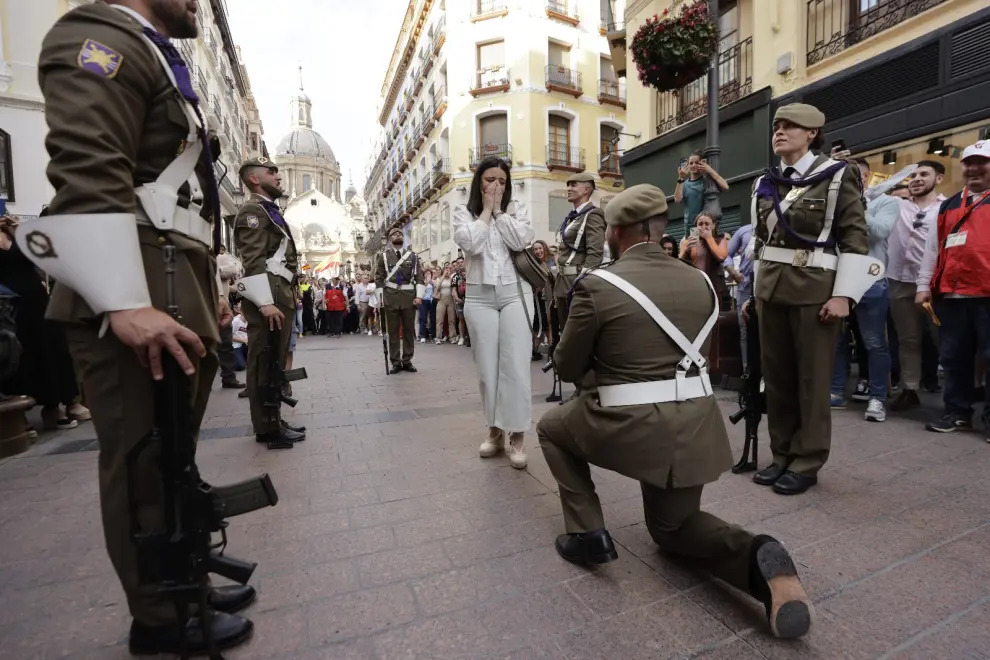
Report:
<svg viewBox="0 0 990 660"><path fill-rule="evenodd" d="M554 354L563 380L594 372L597 386L537 425L564 513L557 552L581 564L618 556L589 464L614 470L642 484L647 528L664 552L762 601L778 637L800 637L811 603L783 546L700 509L704 485L732 465L704 358L718 318L712 283L657 243L667 226L659 188L619 193L606 219L616 261L578 278Z"/></svg>

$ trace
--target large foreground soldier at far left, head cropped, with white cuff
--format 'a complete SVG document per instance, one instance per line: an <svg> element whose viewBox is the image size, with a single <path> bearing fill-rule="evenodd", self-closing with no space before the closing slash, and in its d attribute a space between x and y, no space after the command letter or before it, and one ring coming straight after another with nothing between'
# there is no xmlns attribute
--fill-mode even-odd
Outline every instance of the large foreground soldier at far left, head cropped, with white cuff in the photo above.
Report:
<svg viewBox="0 0 990 660"><path fill-rule="evenodd" d="M92 410L107 552L133 616L129 644L137 654L177 653L183 638L190 652L205 650L199 628L180 627L172 601L160 585L142 584L139 571L132 533L165 525L158 445L128 467L129 452L155 423L163 351L190 377L198 432L217 371L218 327L230 321L216 278L219 228L211 225L219 210L215 150L188 69L168 41L196 34L184 3L96 2L55 23L38 63L55 196L48 217L17 233L24 254L58 282L48 317L63 324ZM163 311L166 246L175 249L181 323ZM209 602L229 613L254 595L251 587L214 588ZM247 619L214 615L221 648L251 630Z"/></svg>

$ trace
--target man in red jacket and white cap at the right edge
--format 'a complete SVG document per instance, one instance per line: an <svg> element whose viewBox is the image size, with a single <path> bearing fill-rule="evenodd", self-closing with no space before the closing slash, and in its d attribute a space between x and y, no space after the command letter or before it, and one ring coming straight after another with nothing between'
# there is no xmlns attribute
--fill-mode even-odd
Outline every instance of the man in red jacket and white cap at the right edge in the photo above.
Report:
<svg viewBox="0 0 990 660"><path fill-rule="evenodd" d="M934 296L941 322L945 414L926 426L939 433L973 430L973 364L978 355L990 360L990 140L966 147L962 167L966 187L939 209L915 296L918 305ZM982 417L990 442L990 402Z"/></svg>

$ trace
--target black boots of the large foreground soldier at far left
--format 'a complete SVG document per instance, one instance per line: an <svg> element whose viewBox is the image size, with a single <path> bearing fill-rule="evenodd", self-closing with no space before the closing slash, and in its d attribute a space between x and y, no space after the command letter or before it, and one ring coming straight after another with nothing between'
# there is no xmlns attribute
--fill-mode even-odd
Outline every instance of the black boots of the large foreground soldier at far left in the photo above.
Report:
<svg viewBox="0 0 990 660"><path fill-rule="evenodd" d="M250 620L236 614L215 612L210 624L213 640L218 650L233 648L241 644L254 630ZM162 653L178 655L182 651L182 640L185 638L186 648L190 655L205 655L209 648L203 638L199 619L190 619L185 628L179 624L165 626L146 626L134 621L131 623L131 634L128 648L131 655L159 655Z"/></svg>

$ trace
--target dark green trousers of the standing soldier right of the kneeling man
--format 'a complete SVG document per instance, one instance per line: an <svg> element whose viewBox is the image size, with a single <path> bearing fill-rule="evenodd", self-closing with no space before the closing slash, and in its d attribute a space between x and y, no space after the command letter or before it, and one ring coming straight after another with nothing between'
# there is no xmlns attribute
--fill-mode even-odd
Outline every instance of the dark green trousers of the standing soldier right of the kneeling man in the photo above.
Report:
<svg viewBox="0 0 990 660"><path fill-rule="evenodd" d="M832 374L842 324L822 323L821 305L757 300L767 430L773 462L813 477L832 447Z"/></svg>

